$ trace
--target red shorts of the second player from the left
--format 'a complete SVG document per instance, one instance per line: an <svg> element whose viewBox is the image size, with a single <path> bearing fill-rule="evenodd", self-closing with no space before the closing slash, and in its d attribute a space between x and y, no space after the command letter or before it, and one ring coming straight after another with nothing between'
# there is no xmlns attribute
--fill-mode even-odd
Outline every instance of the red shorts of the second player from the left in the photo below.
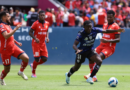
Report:
<svg viewBox="0 0 130 90"><path fill-rule="evenodd" d="M33 56L35 58L37 57L46 57L48 58L48 51L46 48L46 44L40 46L40 45L32 45L33 50Z"/></svg>

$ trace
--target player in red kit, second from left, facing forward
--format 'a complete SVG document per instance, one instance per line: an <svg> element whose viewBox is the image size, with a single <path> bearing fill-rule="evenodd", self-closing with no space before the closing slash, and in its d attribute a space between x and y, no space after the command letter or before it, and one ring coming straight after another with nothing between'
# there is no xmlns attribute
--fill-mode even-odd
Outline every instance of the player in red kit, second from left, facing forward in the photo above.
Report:
<svg viewBox="0 0 130 90"><path fill-rule="evenodd" d="M47 61L48 51L45 44L45 39L47 43L49 42L48 37L49 23L45 21L45 12L39 12L39 20L35 21L29 31L29 35L33 38L32 40L32 50L34 55L34 62L30 64L32 68L32 77L36 78L36 68L37 65L43 64ZM34 34L33 34L34 32Z"/></svg>

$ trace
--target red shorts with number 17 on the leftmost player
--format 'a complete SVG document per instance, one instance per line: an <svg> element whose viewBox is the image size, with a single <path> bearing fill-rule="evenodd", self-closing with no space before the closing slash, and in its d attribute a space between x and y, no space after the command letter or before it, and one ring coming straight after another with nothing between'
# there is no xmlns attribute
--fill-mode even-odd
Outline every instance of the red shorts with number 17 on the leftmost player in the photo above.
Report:
<svg viewBox="0 0 130 90"><path fill-rule="evenodd" d="M1 52L1 58L3 65L10 65L11 64L11 56L14 56L19 59L19 56L24 53L22 49L20 49L18 46L14 45L12 50L3 50Z"/></svg>

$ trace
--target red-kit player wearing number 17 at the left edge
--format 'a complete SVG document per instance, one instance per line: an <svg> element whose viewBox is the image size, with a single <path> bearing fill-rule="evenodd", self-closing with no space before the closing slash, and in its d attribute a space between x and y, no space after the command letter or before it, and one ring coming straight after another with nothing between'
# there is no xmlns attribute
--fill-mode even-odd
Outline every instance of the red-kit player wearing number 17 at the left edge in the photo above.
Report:
<svg viewBox="0 0 130 90"><path fill-rule="evenodd" d="M21 25L16 26L14 30L10 27L10 15L7 12L1 12L0 17L2 22L0 23L0 53L2 62L4 65L4 70L0 75L1 85L6 85L4 78L10 71L11 67L11 56L18 59L22 59L21 68L18 75L23 79L28 80L28 77L23 73L24 69L28 65L29 57L22 49L20 49L16 44L22 46L21 43L14 39L13 34L21 27ZM16 44L15 44L16 43Z"/></svg>

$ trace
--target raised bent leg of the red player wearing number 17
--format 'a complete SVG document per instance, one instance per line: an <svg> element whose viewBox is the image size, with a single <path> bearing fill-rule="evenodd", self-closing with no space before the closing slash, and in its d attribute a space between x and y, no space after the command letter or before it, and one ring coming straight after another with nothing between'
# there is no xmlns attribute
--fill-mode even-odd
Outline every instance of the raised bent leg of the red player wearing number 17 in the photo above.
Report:
<svg viewBox="0 0 130 90"><path fill-rule="evenodd" d="M18 46L15 45L14 53L12 56L22 60L18 75L21 76L24 80L28 80L28 77L23 73L25 68L28 65L28 61L29 61L28 55L22 49L20 49Z"/></svg>

